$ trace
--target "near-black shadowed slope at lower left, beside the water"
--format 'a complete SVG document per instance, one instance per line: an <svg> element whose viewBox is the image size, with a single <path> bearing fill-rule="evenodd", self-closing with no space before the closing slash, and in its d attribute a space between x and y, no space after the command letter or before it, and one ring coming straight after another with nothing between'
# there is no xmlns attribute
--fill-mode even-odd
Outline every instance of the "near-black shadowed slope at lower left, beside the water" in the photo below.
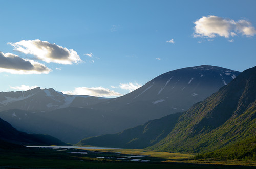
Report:
<svg viewBox="0 0 256 169"><path fill-rule="evenodd" d="M18 145L67 145L66 143L63 143L59 139L50 135L27 134L25 132L20 132L1 118L0 140L6 145L9 145L8 143L14 143Z"/></svg>

